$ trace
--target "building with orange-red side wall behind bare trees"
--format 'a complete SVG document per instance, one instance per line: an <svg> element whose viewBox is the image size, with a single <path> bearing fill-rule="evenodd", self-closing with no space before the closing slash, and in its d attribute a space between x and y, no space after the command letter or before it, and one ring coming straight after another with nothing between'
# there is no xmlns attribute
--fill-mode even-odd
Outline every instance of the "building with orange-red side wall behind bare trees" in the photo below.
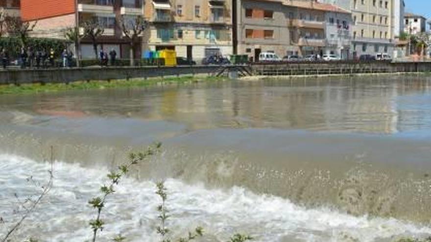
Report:
<svg viewBox="0 0 431 242"><path fill-rule="evenodd" d="M142 0L21 0L22 19L37 21L33 37L65 38L69 27L82 26L82 22L96 20L104 27L103 36L98 40L98 49L115 49L121 58L129 57L130 45L122 38L117 20L119 17L132 18L143 14ZM81 31L83 31L81 29ZM80 45L83 59L94 58L93 46L89 39ZM137 53L137 57L141 54Z"/></svg>

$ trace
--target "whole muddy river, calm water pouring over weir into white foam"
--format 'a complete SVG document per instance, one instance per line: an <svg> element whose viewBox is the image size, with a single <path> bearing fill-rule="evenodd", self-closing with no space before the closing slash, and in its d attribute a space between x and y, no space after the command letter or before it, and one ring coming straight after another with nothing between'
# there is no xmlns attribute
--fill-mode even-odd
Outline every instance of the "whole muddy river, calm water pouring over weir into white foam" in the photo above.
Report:
<svg viewBox="0 0 431 242"><path fill-rule="evenodd" d="M160 241L155 182L174 237L393 242L431 234L427 75L214 81L0 96L0 226L19 217L54 149L54 185L17 238L86 241L106 174L154 141L107 201L100 234Z"/></svg>

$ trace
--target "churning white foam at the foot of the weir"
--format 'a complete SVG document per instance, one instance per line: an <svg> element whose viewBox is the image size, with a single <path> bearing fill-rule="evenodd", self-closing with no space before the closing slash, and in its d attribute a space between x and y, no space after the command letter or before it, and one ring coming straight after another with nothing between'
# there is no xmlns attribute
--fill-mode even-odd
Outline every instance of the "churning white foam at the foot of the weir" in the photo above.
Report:
<svg viewBox="0 0 431 242"><path fill-rule="evenodd" d="M0 235L19 218L17 199L37 193L27 177L42 184L48 180L50 164L24 157L0 154ZM15 235L18 241L32 236L47 242L84 242L91 238L88 222L96 211L88 200L98 195L106 182L107 168L83 168L79 164L55 162L54 184L38 210ZM306 209L287 199L257 195L241 187L210 190L168 179L168 227L173 237L186 235L200 225L205 241L226 241L241 232L258 242L391 241L399 236L431 234L430 227L396 219L354 217L330 209ZM132 242L156 242L156 206L160 199L153 181L121 180L107 199L102 218L106 222L99 241L110 241L121 233Z"/></svg>

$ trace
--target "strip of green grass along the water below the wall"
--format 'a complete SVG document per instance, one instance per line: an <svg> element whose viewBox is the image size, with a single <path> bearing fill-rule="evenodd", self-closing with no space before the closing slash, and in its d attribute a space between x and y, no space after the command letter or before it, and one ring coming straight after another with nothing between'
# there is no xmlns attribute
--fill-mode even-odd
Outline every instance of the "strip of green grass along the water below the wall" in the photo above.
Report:
<svg viewBox="0 0 431 242"><path fill-rule="evenodd" d="M131 79L131 80L112 80L112 81L80 81L72 82L69 84L23 84L16 85L3 85L0 86L0 95L2 94L31 94L31 93L44 93L44 92L57 92L65 90L89 90L89 89L105 89L105 88L138 88L149 87L154 85L168 85L168 84L187 84L203 81L222 81L224 77L210 77L210 76L181 76L181 77L168 77L168 78L148 78L144 79Z"/></svg>

